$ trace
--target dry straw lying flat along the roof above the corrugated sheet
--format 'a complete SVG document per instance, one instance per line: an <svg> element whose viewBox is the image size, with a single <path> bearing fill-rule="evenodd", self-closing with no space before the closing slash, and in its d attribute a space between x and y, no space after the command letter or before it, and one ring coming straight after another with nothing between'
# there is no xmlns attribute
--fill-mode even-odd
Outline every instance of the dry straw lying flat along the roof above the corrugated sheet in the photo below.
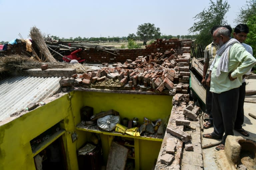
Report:
<svg viewBox="0 0 256 170"><path fill-rule="evenodd" d="M26 55L9 55L0 57L0 72L13 70L27 70L33 68L41 68L41 65L48 64L48 68L73 68L77 73L87 72L89 67L80 63L71 64L66 62L39 62L31 59Z"/></svg>

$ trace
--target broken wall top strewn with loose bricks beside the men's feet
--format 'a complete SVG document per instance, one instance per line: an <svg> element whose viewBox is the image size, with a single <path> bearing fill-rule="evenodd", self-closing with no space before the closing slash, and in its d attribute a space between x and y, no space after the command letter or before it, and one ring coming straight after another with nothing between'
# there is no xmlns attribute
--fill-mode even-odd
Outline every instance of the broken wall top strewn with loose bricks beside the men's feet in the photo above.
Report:
<svg viewBox="0 0 256 170"><path fill-rule="evenodd" d="M190 112L194 110L196 119L187 117L184 110ZM199 113L199 108L194 106L194 102L189 101L188 94L173 96L173 108L155 170L203 170L201 131L197 120ZM190 125L195 127L195 130L186 128ZM172 157L174 157L173 160Z"/></svg>

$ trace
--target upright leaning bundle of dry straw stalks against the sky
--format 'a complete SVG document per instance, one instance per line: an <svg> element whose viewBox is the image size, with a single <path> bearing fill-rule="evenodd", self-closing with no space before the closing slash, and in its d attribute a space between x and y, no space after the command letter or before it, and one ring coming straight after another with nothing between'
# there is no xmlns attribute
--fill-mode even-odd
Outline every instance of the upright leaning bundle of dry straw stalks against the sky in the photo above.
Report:
<svg viewBox="0 0 256 170"><path fill-rule="evenodd" d="M36 44L37 48L40 50L40 52L44 55L45 61L57 62L57 60L52 56L51 52L47 48L44 38L41 34L41 31L38 28L36 28L36 27L30 28L29 36L35 42L35 44ZM42 61L44 61L44 60L42 59Z"/></svg>

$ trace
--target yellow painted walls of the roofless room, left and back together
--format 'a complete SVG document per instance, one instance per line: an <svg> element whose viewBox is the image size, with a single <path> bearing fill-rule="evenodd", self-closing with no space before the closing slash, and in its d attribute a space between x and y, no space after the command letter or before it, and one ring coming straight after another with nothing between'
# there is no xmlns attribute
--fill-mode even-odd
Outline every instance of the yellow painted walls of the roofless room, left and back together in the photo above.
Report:
<svg viewBox="0 0 256 170"><path fill-rule="evenodd" d="M67 156L69 170L78 170L77 149L90 140L91 133L76 130L75 126L80 120L80 109L84 106L94 108L94 114L101 111L114 109L121 118L139 118L139 124L143 123L144 116L150 120L168 116L172 108L172 96L115 94L73 91L59 99L41 106L15 120L0 126L0 170L34 170L34 154L32 153L30 140L61 122L61 128L65 129L62 135ZM71 134L76 132L78 140L72 143ZM108 136L102 136L104 141ZM154 147L158 142L141 141L141 145ZM144 143L145 142L145 143ZM45 145L48 146L50 143ZM104 144L107 148L107 144ZM156 147L156 150L158 149ZM42 148L43 149L43 148ZM141 147L141 154L148 153L147 147ZM160 150L160 147L159 147ZM158 155L154 151L153 155ZM105 160L108 150L103 151ZM141 155L140 154L140 155ZM157 156L156 156L157 157ZM144 157L141 157L144 160ZM147 164L145 159L141 166ZM141 168L144 169L144 168Z"/></svg>

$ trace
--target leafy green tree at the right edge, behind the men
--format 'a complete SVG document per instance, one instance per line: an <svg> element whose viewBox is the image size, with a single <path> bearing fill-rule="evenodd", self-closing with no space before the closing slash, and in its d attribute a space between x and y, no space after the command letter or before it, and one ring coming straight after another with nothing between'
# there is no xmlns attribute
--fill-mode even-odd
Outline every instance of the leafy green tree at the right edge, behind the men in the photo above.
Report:
<svg viewBox="0 0 256 170"><path fill-rule="evenodd" d="M246 23L249 27L249 33L245 43L251 45L253 56L256 58L256 0L250 0L240 9L240 14L236 19L236 23Z"/></svg>

